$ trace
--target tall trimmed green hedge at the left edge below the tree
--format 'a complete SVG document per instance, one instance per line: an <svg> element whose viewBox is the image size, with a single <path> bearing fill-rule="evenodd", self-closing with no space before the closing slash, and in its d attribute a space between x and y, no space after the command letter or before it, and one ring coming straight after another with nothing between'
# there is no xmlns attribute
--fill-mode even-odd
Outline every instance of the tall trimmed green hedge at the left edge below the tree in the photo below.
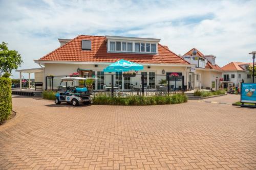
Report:
<svg viewBox="0 0 256 170"><path fill-rule="evenodd" d="M11 114L12 110L12 81L10 78L0 77L0 124Z"/></svg>

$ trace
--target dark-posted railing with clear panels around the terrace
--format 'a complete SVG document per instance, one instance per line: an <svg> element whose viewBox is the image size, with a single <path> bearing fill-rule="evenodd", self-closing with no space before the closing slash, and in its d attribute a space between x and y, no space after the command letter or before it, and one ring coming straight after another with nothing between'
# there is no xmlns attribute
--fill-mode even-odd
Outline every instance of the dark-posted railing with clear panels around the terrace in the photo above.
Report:
<svg viewBox="0 0 256 170"><path fill-rule="evenodd" d="M61 78L69 76L47 76L46 90L57 91L60 88ZM87 78L86 76L79 76ZM141 75L99 74L90 85L93 93L118 95L167 95L173 92L182 92L186 89L184 76L170 77L169 75L155 75L152 72ZM67 86L67 84L66 84ZM79 86L79 83L75 86Z"/></svg>

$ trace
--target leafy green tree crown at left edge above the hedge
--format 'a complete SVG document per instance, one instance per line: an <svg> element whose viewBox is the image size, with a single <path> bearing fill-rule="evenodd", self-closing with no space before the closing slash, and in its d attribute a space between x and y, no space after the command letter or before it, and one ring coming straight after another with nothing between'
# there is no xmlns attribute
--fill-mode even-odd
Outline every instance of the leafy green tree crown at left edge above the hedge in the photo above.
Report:
<svg viewBox="0 0 256 170"><path fill-rule="evenodd" d="M9 50L6 42L0 44L0 76L4 72L11 74L13 69L17 69L22 64L22 57L15 50Z"/></svg>

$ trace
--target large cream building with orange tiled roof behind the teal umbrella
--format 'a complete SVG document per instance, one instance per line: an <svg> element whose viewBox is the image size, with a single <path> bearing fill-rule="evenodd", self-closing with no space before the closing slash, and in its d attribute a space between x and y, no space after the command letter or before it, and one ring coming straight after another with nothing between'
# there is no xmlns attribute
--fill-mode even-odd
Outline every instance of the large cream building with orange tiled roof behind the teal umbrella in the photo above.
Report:
<svg viewBox="0 0 256 170"><path fill-rule="evenodd" d="M110 75L114 75L115 85L129 90L131 84L141 84L141 75L144 75L146 86L155 86L172 73L177 73L180 77L175 82L172 80L170 86L182 89L188 84L189 71L196 65L161 45L160 39L156 38L79 35L74 39L59 39L59 42L60 47L56 50L34 60L45 66L42 76L44 79L41 80L45 88L57 88L61 77L73 72L85 76L91 72L98 78L95 81L95 90L102 90L103 85L110 85ZM144 69L138 71L135 78L125 78L122 72L103 72L106 66L121 59L141 64ZM51 76L54 77L53 80Z"/></svg>

